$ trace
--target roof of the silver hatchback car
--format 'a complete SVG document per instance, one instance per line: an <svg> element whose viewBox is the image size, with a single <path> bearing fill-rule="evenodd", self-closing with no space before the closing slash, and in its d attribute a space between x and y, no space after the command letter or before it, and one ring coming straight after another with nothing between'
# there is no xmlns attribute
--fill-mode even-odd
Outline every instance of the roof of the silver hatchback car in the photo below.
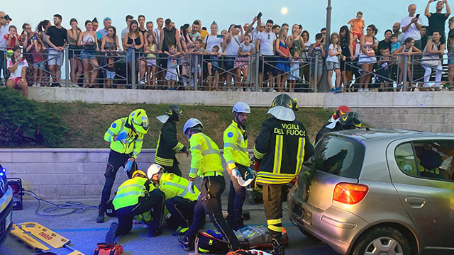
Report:
<svg viewBox="0 0 454 255"><path fill-rule="evenodd" d="M348 139L366 142L367 140L387 140L392 142L398 139L411 138L411 137L429 137L429 136L444 136L453 137L453 133L433 133L423 132L416 130L402 130L402 129L384 129L384 128L362 128L354 130L342 130L337 132L330 132L330 135L338 137L345 137Z"/></svg>

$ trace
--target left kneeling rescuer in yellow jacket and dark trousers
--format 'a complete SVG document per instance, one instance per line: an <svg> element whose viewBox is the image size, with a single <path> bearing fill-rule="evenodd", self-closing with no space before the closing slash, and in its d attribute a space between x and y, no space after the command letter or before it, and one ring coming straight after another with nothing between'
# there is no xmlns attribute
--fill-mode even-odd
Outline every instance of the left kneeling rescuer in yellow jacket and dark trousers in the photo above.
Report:
<svg viewBox="0 0 454 255"><path fill-rule="evenodd" d="M162 234L164 200L164 193L153 186L143 171L134 171L133 178L118 187L113 201L118 223L112 222L109 232L106 234L106 242L116 243L116 237L131 232L133 220L138 215L148 225L149 237L157 237Z"/></svg>

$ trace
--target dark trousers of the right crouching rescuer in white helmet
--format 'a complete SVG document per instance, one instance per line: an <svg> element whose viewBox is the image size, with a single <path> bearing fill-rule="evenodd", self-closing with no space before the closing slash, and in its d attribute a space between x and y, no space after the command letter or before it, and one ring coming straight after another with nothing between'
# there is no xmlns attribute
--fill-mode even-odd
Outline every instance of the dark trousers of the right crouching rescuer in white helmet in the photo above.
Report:
<svg viewBox="0 0 454 255"><path fill-rule="evenodd" d="M175 196L165 201L165 207L172 217L177 220L180 227L190 227L194 218L194 207L197 201Z"/></svg>

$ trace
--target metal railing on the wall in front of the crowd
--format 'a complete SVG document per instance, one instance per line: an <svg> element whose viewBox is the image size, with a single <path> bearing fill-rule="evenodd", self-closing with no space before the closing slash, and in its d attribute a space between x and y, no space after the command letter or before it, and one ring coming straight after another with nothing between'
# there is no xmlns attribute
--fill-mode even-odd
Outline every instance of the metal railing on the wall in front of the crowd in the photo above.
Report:
<svg viewBox="0 0 454 255"><path fill-rule="evenodd" d="M8 54L4 53L6 70L4 76L8 79L9 72L6 69ZM318 91L319 64L315 64L319 61L318 56L283 59L255 53L251 57L238 59L236 58L238 56L228 55L211 57L212 55L182 54L175 57L172 62L172 57L163 53L156 53L153 56L135 49L128 52L101 52L66 47L62 53L64 57L60 60L62 61L60 69L63 68L65 72L62 75L63 81L59 81L58 72L55 70L52 72L49 64L59 56L48 51L40 53L24 51L23 58L28 60L29 65L26 76L28 85L57 84L56 86L67 87L196 91ZM34 62L36 56L41 56L42 61ZM450 77L454 74L449 74L447 55L441 57L441 69L438 69L438 72L432 69L430 74L427 74L429 71L423 67L424 62L421 61L423 57L400 55L392 57L385 65L379 65L380 58L377 57L377 60L371 63L370 69L363 69L358 65L358 58L348 59L342 62L341 69L351 78L343 79L341 86L344 91L358 91L366 85L379 91L411 91L416 87L420 90L454 89L452 81L450 82ZM74 62L79 66L78 72L73 71L77 75L71 74L71 69L75 68ZM80 67L81 64L83 68ZM239 68L240 65L243 69ZM323 60L323 66L325 65L326 60ZM232 66L233 69L229 68ZM433 81L434 72L438 74L437 81ZM335 76L333 74L333 78ZM435 86L428 86L429 83Z"/></svg>

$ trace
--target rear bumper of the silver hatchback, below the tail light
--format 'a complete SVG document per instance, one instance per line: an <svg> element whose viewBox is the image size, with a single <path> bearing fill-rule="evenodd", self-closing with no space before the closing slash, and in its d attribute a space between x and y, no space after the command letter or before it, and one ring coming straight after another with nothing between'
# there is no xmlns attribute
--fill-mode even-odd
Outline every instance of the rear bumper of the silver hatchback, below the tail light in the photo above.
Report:
<svg viewBox="0 0 454 255"><path fill-rule="evenodd" d="M304 228L340 254L346 254L361 229L368 224L350 212L331 206L319 210L299 198L297 187L289 192L289 218L294 225Z"/></svg>

